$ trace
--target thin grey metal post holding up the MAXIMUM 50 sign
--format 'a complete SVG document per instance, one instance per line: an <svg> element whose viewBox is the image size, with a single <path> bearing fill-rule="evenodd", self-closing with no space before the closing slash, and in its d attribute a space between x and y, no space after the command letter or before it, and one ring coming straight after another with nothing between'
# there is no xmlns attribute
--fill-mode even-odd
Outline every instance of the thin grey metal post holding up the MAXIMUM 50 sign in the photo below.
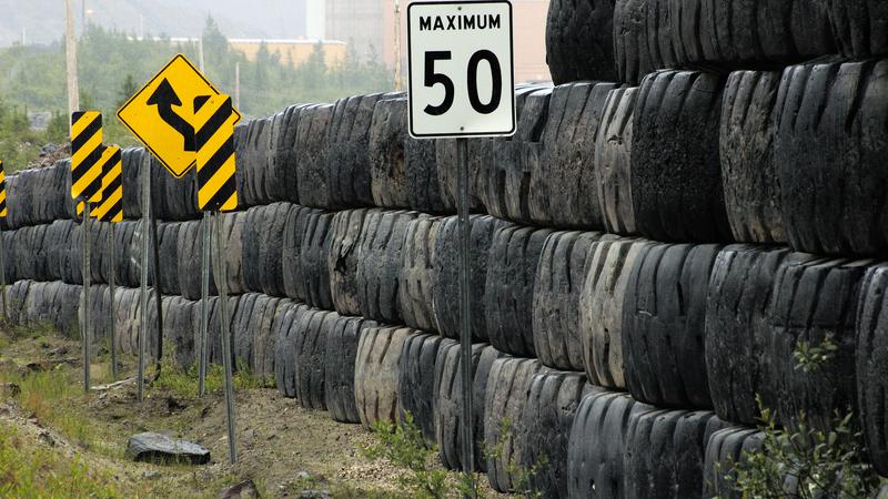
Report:
<svg viewBox="0 0 888 499"><path fill-rule="evenodd" d="M468 297L468 240L471 223L468 217L468 142L456 140L456 162L458 163L460 203L460 356L463 376L463 472L471 485L466 497L474 497L475 451L472 435L472 309Z"/></svg>

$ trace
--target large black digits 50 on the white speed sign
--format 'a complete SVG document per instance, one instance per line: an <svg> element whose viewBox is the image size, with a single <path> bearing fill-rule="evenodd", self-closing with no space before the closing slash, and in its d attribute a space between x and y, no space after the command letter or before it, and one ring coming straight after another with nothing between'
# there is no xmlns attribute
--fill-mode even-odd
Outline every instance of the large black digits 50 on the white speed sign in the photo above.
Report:
<svg viewBox="0 0 888 499"><path fill-rule="evenodd" d="M435 61L450 61L450 51L431 51L425 52L425 86L444 85L444 100L438 105L426 105L425 113L433 116L440 116L453 106L454 85L453 80L443 73L435 72ZM482 61L487 61L491 65L491 77L493 78L493 92L491 100L486 104L481 102L478 96L478 64ZM472 109L481 114L491 114L500 108L500 101L503 98L503 72L500 67L500 59L490 50L478 50L472 58L468 59L468 101L472 103Z"/></svg>

